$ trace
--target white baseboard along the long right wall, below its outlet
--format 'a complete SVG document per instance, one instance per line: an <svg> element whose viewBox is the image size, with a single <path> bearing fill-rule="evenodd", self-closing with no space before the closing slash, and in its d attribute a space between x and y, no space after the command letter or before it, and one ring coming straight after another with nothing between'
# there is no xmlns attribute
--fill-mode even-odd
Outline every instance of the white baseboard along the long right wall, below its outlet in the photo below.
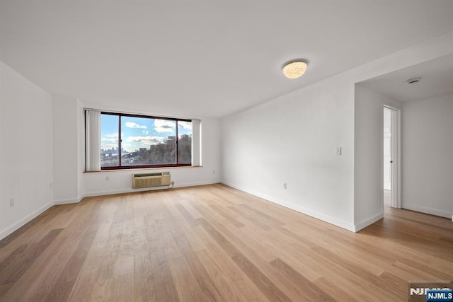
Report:
<svg viewBox="0 0 453 302"><path fill-rule="evenodd" d="M321 214L321 213L316 212L316 211L311 211L310 209L306 209L304 207L300 207L299 205L296 205L296 204L290 204L288 202L283 202L281 200L276 200L273 197L270 197L270 196L267 196L265 194L261 194L261 193L258 193L258 192L254 192L253 190L248 190L245 187L234 185L234 184L231 184L229 182L222 181L222 183L224 185L227 185L229 187L234 187L235 189L241 190L241 191L246 192L248 194L255 195L256 197L260 197L260 198L266 199L269 202L273 202L274 204L279 204L282 207L286 207L288 209L292 209L294 211L298 211L298 212L300 212L302 214L306 214L308 216L314 217L314 218L322 220L324 222L331 223L334 226L339 226L340 228L345 228L346 230L351 231L351 232L355 232L356 231L355 226L353 224L351 224L351 223L346 222L346 221L341 221L341 220L335 219L335 218L333 218L331 216L324 215L324 214Z"/></svg>

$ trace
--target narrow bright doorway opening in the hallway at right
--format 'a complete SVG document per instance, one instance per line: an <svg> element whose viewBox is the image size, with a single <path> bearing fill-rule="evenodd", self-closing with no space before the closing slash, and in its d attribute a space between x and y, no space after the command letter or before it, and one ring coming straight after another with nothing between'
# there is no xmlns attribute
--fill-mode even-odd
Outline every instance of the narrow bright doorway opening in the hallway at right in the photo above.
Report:
<svg viewBox="0 0 453 302"><path fill-rule="evenodd" d="M401 208L399 198L400 183L400 110L384 105L383 129L383 202L384 207Z"/></svg>

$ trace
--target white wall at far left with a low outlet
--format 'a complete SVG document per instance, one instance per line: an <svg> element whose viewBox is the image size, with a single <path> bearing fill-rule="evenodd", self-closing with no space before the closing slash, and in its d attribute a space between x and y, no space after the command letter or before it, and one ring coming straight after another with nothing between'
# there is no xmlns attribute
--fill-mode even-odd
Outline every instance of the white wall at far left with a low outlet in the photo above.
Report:
<svg viewBox="0 0 453 302"><path fill-rule="evenodd" d="M0 239L52 206L52 97L0 62ZM10 207L14 199L14 207Z"/></svg>

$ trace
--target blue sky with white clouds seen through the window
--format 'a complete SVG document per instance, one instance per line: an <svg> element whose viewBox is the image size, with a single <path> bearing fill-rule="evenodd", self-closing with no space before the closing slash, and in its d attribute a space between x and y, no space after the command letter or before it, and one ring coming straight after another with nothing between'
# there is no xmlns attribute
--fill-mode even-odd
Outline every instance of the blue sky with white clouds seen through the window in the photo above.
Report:
<svg viewBox="0 0 453 302"><path fill-rule="evenodd" d="M117 148L118 116L101 115L101 149ZM133 152L161 144L176 135L176 122L143 117L121 117L122 148ZM178 135L192 134L191 122L178 122Z"/></svg>

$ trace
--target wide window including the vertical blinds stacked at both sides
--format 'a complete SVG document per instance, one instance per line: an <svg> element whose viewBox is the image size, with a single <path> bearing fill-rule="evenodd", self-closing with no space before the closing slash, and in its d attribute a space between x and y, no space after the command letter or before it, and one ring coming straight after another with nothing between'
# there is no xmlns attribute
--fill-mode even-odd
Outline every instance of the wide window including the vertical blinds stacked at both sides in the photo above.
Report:
<svg viewBox="0 0 453 302"><path fill-rule="evenodd" d="M200 120L86 110L86 171L200 165Z"/></svg>

